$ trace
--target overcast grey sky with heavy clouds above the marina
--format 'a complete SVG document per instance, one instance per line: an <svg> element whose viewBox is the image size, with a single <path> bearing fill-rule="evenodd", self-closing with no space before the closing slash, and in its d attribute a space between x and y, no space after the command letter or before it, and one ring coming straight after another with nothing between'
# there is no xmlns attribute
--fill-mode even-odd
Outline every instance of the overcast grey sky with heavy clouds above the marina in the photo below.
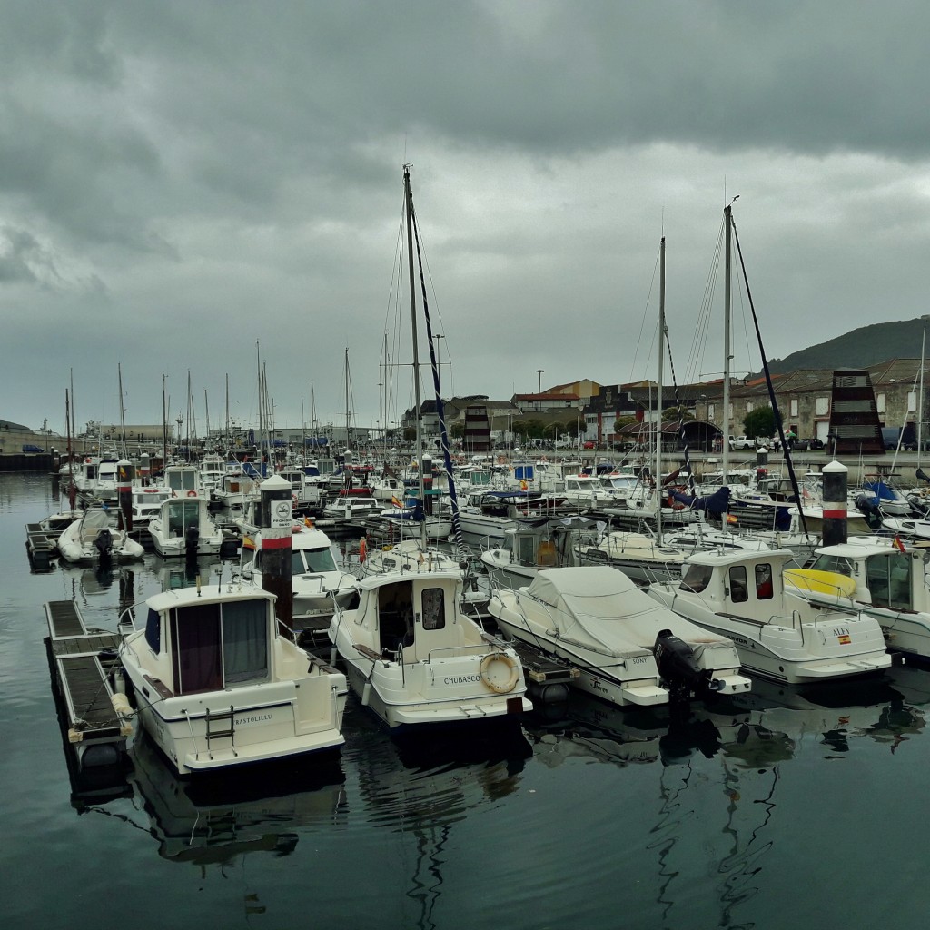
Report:
<svg viewBox="0 0 930 930"><path fill-rule="evenodd" d="M79 429L118 423L120 369L127 423L163 382L177 419L190 373L203 434L227 376L257 418L260 358L275 425L341 424L347 349L356 422L399 419L405 163L445 396L655 377L663 234L676 375L719 377L736 195L768 357L928 312L925 0L0 13L2 419L64 432L73 380Z"/></svg>

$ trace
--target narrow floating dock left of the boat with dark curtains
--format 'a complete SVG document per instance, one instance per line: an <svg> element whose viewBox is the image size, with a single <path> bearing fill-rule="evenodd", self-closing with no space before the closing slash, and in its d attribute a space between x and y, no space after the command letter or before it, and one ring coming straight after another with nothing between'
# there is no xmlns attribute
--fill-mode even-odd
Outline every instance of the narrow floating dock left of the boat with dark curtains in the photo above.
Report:
<svg viewBox="0 0 930 930"><path fill-rule="evenodd" d="M73 601L49 601L45 607L48 665L60 697L72 762L78 772L121 764L132 726L126 721L125 696L114 695L110 684L120 636L88 630Z"/></svg>

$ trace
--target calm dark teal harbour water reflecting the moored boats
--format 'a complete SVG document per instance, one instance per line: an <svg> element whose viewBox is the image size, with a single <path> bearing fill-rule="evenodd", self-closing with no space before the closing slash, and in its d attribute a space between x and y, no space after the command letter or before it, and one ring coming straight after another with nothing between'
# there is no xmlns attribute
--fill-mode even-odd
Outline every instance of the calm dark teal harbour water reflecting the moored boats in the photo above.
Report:
<svg viewBox="0 0 930 930"><path fill-rule="evenodd" d="M351 699L328 761L181 782L137 738L121 783L74 786L42 606L113 629L167 576L153 554L31 574L24 525L59 509L49 477L0 475L4 928L925 923L930 671L911 667L817 694L755 683L682 721L578 700L426 745Z"/></svg>

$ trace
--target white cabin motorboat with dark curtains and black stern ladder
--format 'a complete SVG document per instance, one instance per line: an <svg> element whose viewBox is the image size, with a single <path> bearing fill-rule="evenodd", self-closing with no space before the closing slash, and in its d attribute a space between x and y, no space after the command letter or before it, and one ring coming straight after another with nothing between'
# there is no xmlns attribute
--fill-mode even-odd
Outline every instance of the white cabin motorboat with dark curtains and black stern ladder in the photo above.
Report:
<svg viewBox="0 0 930 930"><path fill-rule="evenodd" d="M252 584L198 584L121 618L126 711L179 775L343 744L345 676L278 631L274 600Z"/></svg>

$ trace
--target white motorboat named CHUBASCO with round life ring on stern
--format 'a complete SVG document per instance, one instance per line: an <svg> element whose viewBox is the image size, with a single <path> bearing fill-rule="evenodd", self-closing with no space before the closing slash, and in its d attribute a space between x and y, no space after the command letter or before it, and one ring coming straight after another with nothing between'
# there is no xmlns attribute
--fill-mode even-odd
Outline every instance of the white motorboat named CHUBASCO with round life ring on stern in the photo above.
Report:
<svg viewBox="0 0 930 930"><path fill-rule="evenodd" d="M337 605L334 651L362 703L392 728L475 724L532 710L512 646L460 604L458 571L388 571L357 582L358 603Z"/></svg>

